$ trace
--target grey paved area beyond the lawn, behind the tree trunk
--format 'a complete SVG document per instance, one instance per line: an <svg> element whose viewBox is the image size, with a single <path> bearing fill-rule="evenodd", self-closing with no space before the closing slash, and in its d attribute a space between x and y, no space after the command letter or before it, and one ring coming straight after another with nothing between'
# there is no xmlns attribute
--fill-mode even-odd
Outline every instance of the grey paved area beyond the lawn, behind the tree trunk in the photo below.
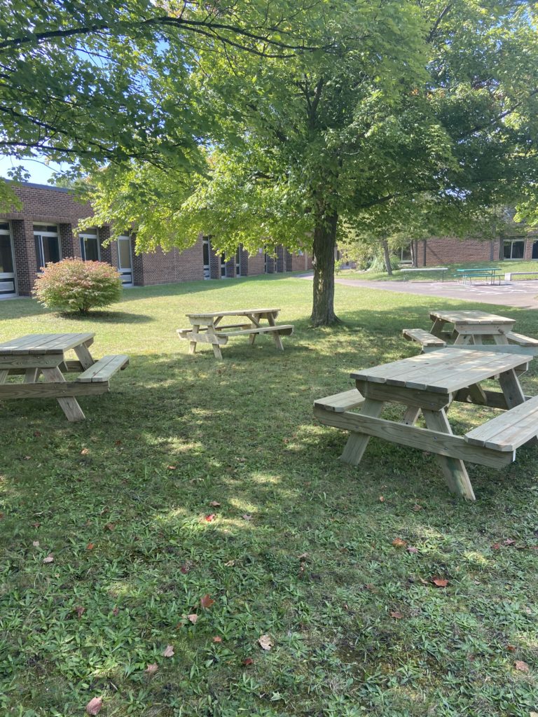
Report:
<svg viewBox="0 0 538 717"><path fill-rule="evenodd" d="M303 279L312 279L313 275L303 275ZM538 281L501 280L501 285L487 284L458 284L452 281L382 281L362 279L345 279L335 277L337 284L346 286L359 286L364 289L379 289L382 291L395 291L401 294L417 294L424 296L440 296L447 299L460 299L463 301L481 302L485 304L498 304L515 306L516 308L538 309Z"/></svg>

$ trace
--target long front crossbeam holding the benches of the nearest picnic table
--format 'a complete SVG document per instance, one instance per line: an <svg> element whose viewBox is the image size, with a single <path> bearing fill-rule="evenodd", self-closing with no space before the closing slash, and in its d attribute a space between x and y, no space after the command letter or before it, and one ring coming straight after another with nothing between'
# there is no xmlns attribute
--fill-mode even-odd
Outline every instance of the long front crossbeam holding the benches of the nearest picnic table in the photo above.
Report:
<svg viewBox="0 0 538 717"><path fill-rule="evenodd" d="M325 426L347 431L362 432L375 438L382 438L402 446L468 460L490 468L502 468L514 462L515 455L470 445L463 437L438 430L418 428L362 413L335 413L325 409L314 409L314 415ZM483 450L480 450L483 448ZM469 450L471 449L471 450Z"/></svg>

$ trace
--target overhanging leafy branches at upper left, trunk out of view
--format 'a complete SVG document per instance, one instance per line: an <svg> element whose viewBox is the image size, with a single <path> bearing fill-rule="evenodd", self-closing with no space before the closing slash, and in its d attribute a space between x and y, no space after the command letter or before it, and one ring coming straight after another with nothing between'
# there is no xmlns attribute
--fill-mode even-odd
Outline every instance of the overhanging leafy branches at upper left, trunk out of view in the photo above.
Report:
<svg viewBox="0 0 538 717"><path fill-rule="evenodd" d="M194 97L204 48L260 59L308 51L323 0L5 0L0 13L0 154L73 172L136 159L193 171L213 113ZM291 20L296 20L292 24ZM297 31L301 31L300 34ZM0 181L0 201L14 195Z"/></svg>

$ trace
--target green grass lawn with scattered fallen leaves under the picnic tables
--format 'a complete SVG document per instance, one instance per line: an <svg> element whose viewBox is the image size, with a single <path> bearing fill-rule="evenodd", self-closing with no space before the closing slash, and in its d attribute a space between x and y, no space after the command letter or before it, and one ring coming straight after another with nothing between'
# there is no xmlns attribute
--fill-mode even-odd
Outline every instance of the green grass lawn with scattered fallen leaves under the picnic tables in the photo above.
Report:
<svg viewBox="0 0 538 717"><path fill-rule="evenodd" d="M84 423L0 403L1 715L72 717L98 696L101 717L538 712L538 449L503 473L469 464L471 504L416 450L372 439L341 464L344 433L312 417L352 369L416 353L401 330L429 328L429 308L469 304L338 285L344 325L313 331L311 289L139 288L85 319L0 303L1 341L95 331L94 356L131 356L80 399ZM176 337L186 311L245 305L295 323L284 353L230 339L219 363ZM476 308L538 335L535 312ZM522 382L537 393L534 367ZM453 427L483 411L451 409Z"/></svg>

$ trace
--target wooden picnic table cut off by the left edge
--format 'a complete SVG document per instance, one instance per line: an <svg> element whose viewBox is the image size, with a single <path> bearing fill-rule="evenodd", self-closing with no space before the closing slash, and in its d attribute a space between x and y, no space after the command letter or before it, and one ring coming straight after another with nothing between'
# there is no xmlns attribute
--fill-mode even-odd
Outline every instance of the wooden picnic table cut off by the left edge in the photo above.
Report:
<svg viewBox="0 0 538 717"><path fill-rule="evenodd" d="M85 415L75 396L103 394L110 376L124 369L128 356L104 356L95 361L90 353L95 333L38 333L0 343L0 400L55 398L68 421L83 421ZM65 353L75 351L76 361ZM66 381L67 371L80 372ZM7 382L8 376L24 376L22 383ZM39 379L43 378L43 381Z"/></svg>

